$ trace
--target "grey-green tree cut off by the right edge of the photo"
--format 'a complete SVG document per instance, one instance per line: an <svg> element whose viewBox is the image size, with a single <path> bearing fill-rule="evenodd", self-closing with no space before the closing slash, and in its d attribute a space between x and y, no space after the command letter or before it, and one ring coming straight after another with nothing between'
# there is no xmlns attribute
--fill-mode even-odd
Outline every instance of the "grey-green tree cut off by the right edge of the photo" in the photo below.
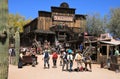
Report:
<svg viewBox="0 0 120 79"><path fill-rule="evenodd" d="M120 8L111 9L109 16L109 32L115 37L120 38Z"/></svg>

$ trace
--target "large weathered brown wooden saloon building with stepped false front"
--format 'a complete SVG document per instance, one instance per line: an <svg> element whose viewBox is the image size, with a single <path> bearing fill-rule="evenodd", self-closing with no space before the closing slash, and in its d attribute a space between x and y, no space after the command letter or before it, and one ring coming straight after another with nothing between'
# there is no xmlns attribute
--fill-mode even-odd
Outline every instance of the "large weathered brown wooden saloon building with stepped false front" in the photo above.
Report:
<svg viewBox="0 0 120 79"><path fill-rule="evenodd" d="M86 15L75 14L75 11L65 2L59 7L51 6L51 12L38 11L38 17L24 26L21 44L32 45L36 39L42 44L47 40L53 45L57 40L78 48L83 41L81 34L85 31Z"/></svg>

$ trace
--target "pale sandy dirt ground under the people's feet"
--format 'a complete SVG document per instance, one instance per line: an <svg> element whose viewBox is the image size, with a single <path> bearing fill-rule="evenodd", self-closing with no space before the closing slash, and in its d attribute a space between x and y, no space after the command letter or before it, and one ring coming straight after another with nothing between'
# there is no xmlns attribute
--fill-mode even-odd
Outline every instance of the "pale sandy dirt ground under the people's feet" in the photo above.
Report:
<svg viewBox="0 0 120 79"><path fill-rule="evenodd" d="M76 68L76 62L74 62L74 68ZM9 65L8 79L120 79L120 72L100 68L98 64L92 64L92 72L62 71L59 58L57 68L52 68L52 59L50 59L50 69L44 69L42 55L38 55L36 67L27 65L18 69L17 66Z"/></svg>

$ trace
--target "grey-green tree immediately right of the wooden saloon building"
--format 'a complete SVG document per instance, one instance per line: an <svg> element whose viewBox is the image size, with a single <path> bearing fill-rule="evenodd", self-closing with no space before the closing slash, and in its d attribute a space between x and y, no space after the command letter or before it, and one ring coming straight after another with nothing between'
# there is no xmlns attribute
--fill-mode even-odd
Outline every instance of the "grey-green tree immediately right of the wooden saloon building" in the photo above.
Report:
<svg viewBox="0 0 120 79"><path fill-rule="evenodd" d="M99 36L101 33L105 33L104 19L100 18L99 14L93 14L87 16L87 32L94 36Z"/></svg>

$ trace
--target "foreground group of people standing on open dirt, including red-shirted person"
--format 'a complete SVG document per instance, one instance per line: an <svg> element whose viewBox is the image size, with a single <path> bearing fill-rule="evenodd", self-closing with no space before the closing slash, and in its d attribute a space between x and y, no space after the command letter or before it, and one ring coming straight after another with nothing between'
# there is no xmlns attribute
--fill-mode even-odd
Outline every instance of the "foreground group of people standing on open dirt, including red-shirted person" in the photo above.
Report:
<svg viewBox="0 0 120 79"><path fill-rule="evenodd" d="M91 67L91 57L87 55L83 57L82 51L78 50L74 52L72 49L67 48L61 49L60 53L56 50L52 52L52 61L53 68L57 68L57 59L60 58L60 66L62 71L92 71ZM59 56L58 56L59 55ZM44 68L50 68L50 53L47 48L43 51L43 60L44 60ZM73 68L74 61L77 63L77 67ZM84 64L83 64L84 63ZM87 65L89 64L89 68Z"/></svg>

